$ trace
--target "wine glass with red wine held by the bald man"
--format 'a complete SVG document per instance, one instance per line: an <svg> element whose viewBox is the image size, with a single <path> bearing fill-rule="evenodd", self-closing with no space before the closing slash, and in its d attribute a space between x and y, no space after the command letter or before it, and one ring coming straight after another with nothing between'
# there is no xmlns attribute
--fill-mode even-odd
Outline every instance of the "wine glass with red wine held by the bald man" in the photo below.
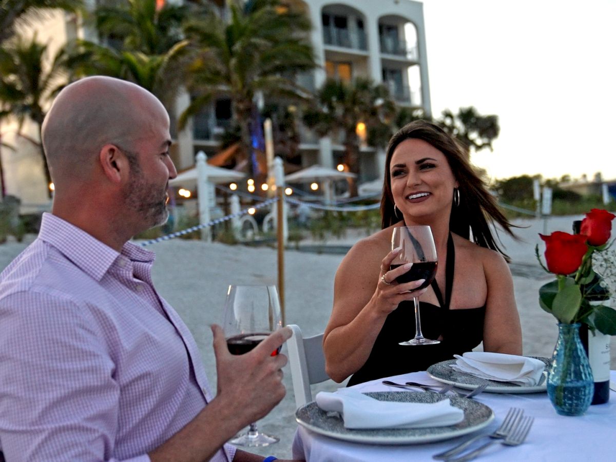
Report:
<svg viewBox="0 0 616 462"><path fill-rule="evenodd" d="M248 353L281 327L280 299L275 285L229 286L222 328L231 354ZM272 356L279 352L280 348L272 352ZM274 444L279 440L259 432L257 424L251 423L248 432L230 440L230 443L256 447Z"/></svg>

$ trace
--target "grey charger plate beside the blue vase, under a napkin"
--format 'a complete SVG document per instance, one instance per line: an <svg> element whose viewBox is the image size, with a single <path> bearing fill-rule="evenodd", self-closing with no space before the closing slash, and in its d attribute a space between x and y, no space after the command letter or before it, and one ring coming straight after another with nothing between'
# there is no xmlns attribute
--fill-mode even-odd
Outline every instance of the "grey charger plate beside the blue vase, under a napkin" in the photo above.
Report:
<svg viewBox="0 0 616 462"><path fill-rule="evenodd" d="M478 386L487 383L488 386L484 391L489 393L544 393L547 390L546 382L548 377L548 368L552 362L549 358L543 358L539 356L527 356L528 358L538 359L545 363L545 370L543 376L537 385L517 385L511 382L498 382L495 380L486 380L466 372L458 372L451 368L452 364L455 364L455 359L447 361L441 361L431 365L428 368L428 375L434 380L442 383L452 384L458 388L467 390L476 389Z"/></svg>

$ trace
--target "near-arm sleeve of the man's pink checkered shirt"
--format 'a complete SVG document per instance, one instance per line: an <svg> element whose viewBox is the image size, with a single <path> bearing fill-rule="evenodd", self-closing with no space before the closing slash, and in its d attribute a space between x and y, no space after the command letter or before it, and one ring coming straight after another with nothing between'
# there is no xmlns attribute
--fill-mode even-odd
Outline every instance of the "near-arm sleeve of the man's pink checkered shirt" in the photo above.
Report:
<svg viewBox="0 0 616 462"><path fill-rule="evenodd" d="M86 307L62 294L10 294L0 300L0 331L6 459L115 461L120 389Z"/></svg>

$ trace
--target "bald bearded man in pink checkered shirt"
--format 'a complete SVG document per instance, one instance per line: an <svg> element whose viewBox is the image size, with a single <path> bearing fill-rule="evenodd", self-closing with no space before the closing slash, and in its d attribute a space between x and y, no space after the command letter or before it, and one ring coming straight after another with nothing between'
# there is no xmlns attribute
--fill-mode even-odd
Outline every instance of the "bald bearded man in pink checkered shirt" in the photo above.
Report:
<svg viewBox="0 0 616 462"><path fill-rule="evenodd" d="M163 224L169 118L139 86L65 87L43 123L55 185L39 237L0 275L0 448L8 461L261 461L224 445L285 395L287 328L245 355L212 326L217 395L197 346L129 243ZM223 446L224 445L224 446Z"/></svg>

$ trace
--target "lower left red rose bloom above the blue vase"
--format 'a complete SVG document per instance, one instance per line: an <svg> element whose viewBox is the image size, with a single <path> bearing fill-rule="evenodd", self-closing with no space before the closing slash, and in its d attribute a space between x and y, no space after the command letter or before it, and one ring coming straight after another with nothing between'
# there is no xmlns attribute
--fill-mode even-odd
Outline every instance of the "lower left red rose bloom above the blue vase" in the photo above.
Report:
<svg viewBox="0 0 616 462"><path fill-rule="evenodd" d="M588 250L586 236L554 231L549 236L540 234L545 241L545 261L554 274L572 274L582 264Z"/></svg>

